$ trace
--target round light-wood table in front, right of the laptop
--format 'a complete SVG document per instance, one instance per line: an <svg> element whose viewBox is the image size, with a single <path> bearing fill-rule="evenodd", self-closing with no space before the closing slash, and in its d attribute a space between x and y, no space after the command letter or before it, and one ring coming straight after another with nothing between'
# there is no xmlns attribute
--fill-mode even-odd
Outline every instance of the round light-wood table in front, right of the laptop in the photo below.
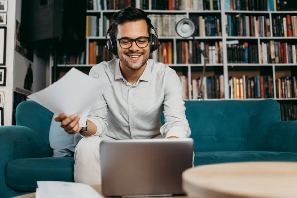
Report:
<svg viewBox="0 0 297 198"><path fill-rule="evenodd" d="M194 198L297 198L297 162L202 165L182 173Z"/></svg>

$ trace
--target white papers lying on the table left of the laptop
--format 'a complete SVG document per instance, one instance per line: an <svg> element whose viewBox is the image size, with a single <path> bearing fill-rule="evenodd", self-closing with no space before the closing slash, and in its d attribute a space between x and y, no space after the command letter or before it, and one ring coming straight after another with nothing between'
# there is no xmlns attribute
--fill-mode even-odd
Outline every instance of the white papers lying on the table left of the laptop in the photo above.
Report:
<svg viewBox="0 0 297 198"><path fill-rule="evenodd" d="M64 181L37 181L40 198L103 198L91 186Z"/></svg>

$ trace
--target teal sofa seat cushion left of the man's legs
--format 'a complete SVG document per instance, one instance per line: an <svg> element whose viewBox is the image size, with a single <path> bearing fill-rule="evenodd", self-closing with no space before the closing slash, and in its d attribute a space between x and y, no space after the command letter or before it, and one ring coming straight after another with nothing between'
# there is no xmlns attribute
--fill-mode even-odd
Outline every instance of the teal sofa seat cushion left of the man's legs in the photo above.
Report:
<svg viewBox="0 0 297 198"><path fill-rule="evenodd" d="M6 166L6 183L16 191L36 190L36 181L69 181L73 178L73 157L24 158Z"/></svg>

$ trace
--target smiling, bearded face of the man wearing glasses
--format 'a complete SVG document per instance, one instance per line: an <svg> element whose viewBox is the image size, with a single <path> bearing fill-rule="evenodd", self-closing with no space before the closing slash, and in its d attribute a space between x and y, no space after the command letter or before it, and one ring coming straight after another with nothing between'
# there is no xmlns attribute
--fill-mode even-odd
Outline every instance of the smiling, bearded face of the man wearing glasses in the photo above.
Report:
<svg viewBox="0 0 297 198"><path fill-rule="evenodd" d="M119 24L117 29L117 39L148 37L148 27L145 20L127 21ZM131 70L138 70L147 63L149 57L149 41L148 45L144 48L138 47L136 42L133 41L132 46L127 49L121 48L119 41L117 41L117 52L122 66L126 66Z"/></svg>

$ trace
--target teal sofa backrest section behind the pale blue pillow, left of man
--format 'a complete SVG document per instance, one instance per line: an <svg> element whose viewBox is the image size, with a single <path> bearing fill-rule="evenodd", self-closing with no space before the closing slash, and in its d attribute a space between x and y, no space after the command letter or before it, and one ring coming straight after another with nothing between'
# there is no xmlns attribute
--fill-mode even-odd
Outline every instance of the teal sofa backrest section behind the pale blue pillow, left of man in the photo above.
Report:
<svg viewBox="0 0 297 198"><path fill-rule="evenodd" d="M16 107L16 125L26 126L38 132L40 141L48 148L49 155L52 149L49 145L49 129L53 113L34 101L23 101Z"/></svg>

